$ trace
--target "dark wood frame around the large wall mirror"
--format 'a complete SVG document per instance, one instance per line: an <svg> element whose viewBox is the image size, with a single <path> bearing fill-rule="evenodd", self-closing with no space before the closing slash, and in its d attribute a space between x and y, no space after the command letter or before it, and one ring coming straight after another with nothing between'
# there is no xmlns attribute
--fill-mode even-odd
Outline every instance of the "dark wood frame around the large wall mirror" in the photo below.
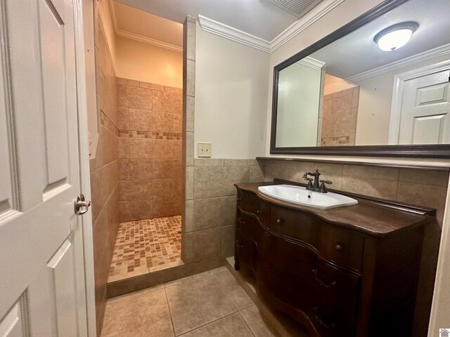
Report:
<svg viewBox="0 0 450 337"><path fill-rule="evenodd" d="M381 15L391 11L392 9L404 4L409 0L386 0L378 6L375 6L340 27L335 32L327 35L323 39L317 41L311 46L305 48L299 53L284 60L274 67L274 87L272 95L272 120L271 120L271 139L270 153L272 154L321 154L333 156L368 156L368 157L419 157L419 158L450 158L450 145L355 145L355 146L314 146L314 147L276 147L276 117L278 105L278 75L285 67L289 67L298 60L302 60L306 56L319 51L319 49L331 44L332 42L344 37L366 25L366 23L375 20Z"/></svg>

